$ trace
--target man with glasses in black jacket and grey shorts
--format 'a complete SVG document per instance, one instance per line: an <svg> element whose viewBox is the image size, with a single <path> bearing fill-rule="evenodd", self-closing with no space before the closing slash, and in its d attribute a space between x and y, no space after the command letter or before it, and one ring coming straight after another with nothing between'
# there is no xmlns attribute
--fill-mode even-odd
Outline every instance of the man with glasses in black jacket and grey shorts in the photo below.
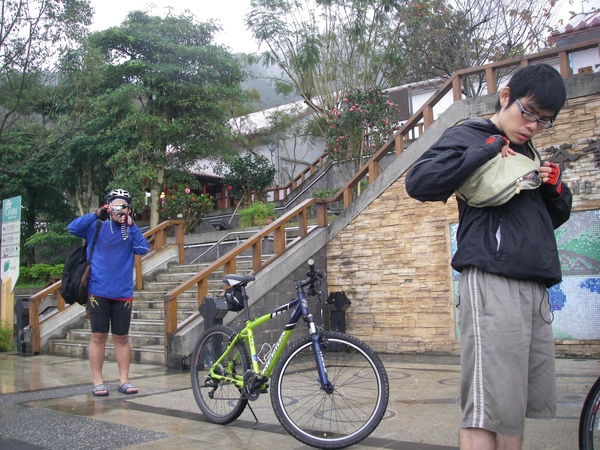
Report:
<svg viewBox="0 0 600 450"><path fill-rule="evenodd" d="M531 139L554 125L565 99L563 80L551 66L519 69L500 91L490 119L446 130L413 165L406 177L408 194L446 201L498 153L531 158ZM519 449L525 417L556 415L546 288L561 281L554 230L569 219L572 195L557 165L545 161L539 172L539 188L499 206L476 208L457 198L452 267L461 273L463 450Z"/></svg>

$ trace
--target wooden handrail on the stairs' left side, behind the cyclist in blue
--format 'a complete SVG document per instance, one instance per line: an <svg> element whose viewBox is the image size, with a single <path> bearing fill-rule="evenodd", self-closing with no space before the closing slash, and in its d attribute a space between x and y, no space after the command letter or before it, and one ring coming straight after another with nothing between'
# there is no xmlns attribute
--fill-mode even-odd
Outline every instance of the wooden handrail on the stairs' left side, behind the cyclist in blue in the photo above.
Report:
<svg viewBox="0 0 600 450"><path fill-rule="evenodd" d="M175 229L175 245L179 247L179 262L183 264L184 248L183 248L183 220L167 220L160 223L158 226L146 231L144 237L150 244L150 250L143 257L135 255L134 271L135 271L135 289L142 289L142 262L144 259L155 255L165 249L167 244L167 232ZM31 328L31 349L32 353L40 352L40 303L49 295L56 296L56 309L62 311L70 305L66 305L64 299L60 295L60 286L62 282L57 281L54 284L42 289L29 297L29 327Z"/></svg>

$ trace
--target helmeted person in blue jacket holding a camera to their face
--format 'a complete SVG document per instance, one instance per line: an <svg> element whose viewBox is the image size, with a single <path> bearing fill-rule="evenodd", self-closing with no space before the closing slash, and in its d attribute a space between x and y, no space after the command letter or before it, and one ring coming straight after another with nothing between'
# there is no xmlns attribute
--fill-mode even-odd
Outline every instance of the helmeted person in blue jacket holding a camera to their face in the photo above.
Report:
<svg viewBox="0 0 600 450"><path fill-rule="evenodd" d="M69 233L91 243L96 231L96 221L102 221L90 264L87 301L92 328L88 353L94 396L108 395L102 377L102 366L109 329L119 368L118 391L123 394L138 392L137 388L129 383L133 255L147 253L149 246L131 218L130 207L129 192L113 189L107 196L107 204L95 213L78 217L67 227Z"/></svg>

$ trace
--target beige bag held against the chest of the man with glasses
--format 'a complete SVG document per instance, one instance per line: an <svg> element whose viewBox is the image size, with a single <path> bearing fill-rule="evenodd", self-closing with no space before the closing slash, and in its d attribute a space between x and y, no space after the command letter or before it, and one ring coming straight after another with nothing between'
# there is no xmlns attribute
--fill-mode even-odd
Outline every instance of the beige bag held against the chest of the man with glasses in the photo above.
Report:
<svg viewBox="0 0 600 450"><path fill-rule="evenodd" d="M534 152L535 154L535 152ZM540 161L519 153L502 157L500 153L475 170L456 190L456 196L469 206L499 206L523 189L537 189Z"/></svg>

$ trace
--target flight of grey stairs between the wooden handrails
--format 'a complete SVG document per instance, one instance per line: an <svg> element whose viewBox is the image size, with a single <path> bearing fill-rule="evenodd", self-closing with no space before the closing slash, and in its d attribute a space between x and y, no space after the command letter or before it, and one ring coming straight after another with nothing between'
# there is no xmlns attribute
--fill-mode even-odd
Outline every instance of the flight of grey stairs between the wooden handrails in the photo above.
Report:
<svg viewBox="0 0 600 450"><path fill-rule="evenodd" d="M166 272L159 273L153 280L144 282L143 290L134 291L129 331L132 362L164 364L164 295L208 265L209 263L171 265ZM237 273L247 273L251 269L251 265L250 259L240 258L236 262ZM208 282L208 295L221 295L223 291L222 277L222 271L215 272L211 276ZM190 289L180 295L177 321L183 322L194 314L198 310L197 305L196 289ZM90 323L86 318L83 328L69 330L65 339L51 340L49 353L87 358L90 334ZM106 360L115 360L113 341L110 336L106 343Z"/></svg>

